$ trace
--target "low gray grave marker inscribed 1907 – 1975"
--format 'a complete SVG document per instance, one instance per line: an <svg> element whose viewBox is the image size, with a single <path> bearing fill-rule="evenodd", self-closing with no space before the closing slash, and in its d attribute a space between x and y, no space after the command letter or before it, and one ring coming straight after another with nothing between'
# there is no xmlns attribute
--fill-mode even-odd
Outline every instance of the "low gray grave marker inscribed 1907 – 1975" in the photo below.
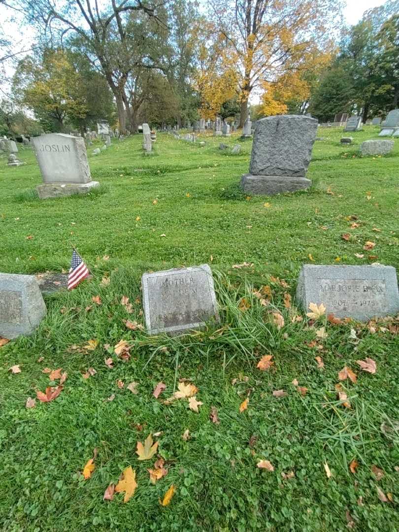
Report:
<svg viewBox="0 0 399 532"><path fill-rule="evenodd" d="M296 298L306 312L309 304L323 303L327 315L367 321L399 312L396 270L380 264L321 266L304 264Z"/></svg>

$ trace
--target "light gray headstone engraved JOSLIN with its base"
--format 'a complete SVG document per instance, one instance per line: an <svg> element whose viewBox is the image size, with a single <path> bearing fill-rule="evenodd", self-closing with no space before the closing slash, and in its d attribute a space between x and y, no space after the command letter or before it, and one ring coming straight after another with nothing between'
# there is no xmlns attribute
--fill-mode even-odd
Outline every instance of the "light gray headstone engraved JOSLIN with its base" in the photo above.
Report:
<svg viewBox="0 0 399 532"><path fill-rule="evenodd" d="M36 187L39 198L87 194L99 185L92 181L85 140L62 133L32 138L43 185Z"/></svg>

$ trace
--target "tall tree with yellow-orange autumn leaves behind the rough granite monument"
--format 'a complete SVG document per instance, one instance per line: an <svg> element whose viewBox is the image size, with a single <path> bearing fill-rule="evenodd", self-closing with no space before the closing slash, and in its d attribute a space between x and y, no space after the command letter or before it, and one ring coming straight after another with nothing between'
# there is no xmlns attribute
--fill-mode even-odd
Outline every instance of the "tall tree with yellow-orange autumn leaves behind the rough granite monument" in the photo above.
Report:
<svg viewBox="0 0 399 532"><path fill-rule="evenodd" d="M339 22L341 7L335 0L210 0L211 16L226 38L226 60L239 76L240 127L255 87L306 69L317 51L331 46L326 35Z"/></svg>

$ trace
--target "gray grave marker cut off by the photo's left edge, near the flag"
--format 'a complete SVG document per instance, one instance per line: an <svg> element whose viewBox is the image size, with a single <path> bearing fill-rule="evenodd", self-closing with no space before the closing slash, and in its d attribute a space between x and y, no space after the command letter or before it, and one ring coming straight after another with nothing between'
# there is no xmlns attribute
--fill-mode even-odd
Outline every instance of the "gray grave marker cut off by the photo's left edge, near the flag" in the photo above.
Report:
<svg viewBox="0 0 399 532"><path fill-rule="evenodd" d="M0 336L28 336L46 315L34 276L0 273Z"/></svg>

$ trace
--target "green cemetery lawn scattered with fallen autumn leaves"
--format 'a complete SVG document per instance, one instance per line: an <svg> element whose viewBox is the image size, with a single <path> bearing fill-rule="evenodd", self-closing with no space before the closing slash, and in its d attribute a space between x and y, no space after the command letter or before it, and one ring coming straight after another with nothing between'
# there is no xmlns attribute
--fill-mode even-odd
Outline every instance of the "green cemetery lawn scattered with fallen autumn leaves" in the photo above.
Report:
<svg viewBox="0 0 399 532"><path fill-rule="evenodd" d="M141 135L113 139L97 157L89 149L101 189L62 200L32 192L41 179L29 149L18 154L24 167L1 159L0 271L66 271L72 242L93 273L70 293L45 296L48 314L33 336L0 347L2 530L399 528L399 320L312 322L295 305L302 263L399 268L399 139L388 156L358 152L378 131L351 132L354 145L343 147L341 128L319 129L312 189L275 197L239 192L251 142L241 142L239 155L218 149L237 136L204 136L200 147L159 134L151 156ZM364 251L368 241L375 246ZM192 335L147 336L142 273L202 263L214 272L221 322ZM135 330L123 320L137 322ZM113 350L121 339L131 346L127 361ZM265 355L273 364L261 371ZM375 374L359 367L365 358ZM15 364L20 373L9 371ZM345 366L355 383L338 380ZM57 385L45 368L68 378L54 401L27 409L28 397ZM89 368L96 373L85 378ZM198 388L198 413L187 399L164 403L179 379ZM133 381L137 394L127 388ZM166 389L156 399L160 381ZM337 397L339 382L346 399ZM136 444L150 433L159 433L157 453L139 461ZM168 473L153 485L147 469L157 454ZM273 470L258 468L260 460ZM130 501L120 493L103 501L129 465L138 484ZM162 506L171 485L176 493Z"/></svg>

